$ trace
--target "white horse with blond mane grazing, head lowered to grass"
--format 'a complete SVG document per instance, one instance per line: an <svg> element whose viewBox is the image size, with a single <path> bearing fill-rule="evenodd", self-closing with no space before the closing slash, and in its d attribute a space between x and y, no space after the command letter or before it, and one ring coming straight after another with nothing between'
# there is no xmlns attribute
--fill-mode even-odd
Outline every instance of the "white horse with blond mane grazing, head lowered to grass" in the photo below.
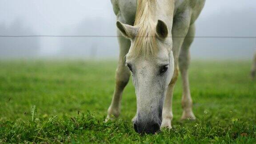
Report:
<svg viewBox="0 0 256 144"><path fill-rule="evenodd" d="M181 119L195 119L188 82L194 22L205 0L111 0L117 16L119 63L107 120L120 115L130 72L136 90L133 119L139 133L172 128L172 95L179 69L183 82Z"/></svg>

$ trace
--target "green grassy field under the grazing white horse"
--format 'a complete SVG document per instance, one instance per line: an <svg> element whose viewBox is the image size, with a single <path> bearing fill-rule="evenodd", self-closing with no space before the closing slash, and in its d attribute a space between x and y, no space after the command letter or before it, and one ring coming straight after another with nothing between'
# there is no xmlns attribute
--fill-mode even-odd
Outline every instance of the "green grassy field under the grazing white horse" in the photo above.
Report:
<svg viewBox="0 0 256 144"><path fill-rule="evenodd" d="M195 121L180 121L181 82L173 129L140 136L132 127L130 82L118 120L104 123L115 61L0 61L0 143L256 143L256 82L249 62L191 64Z"/></svg>

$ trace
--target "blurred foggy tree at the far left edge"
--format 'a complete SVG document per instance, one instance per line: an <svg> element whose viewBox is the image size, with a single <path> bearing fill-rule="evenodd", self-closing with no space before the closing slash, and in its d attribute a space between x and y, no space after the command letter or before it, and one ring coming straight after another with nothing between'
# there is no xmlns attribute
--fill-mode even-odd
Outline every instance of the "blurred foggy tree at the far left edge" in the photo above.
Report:
<svg viewBox="0 0 256 144"><path fill-rule="evenodd" d="M0 24L1 36L34 35L31 28L25 27L17 19L10 25ZM0 58L35 57L39 54L40 41L36 37L0 37Z"/></svg>

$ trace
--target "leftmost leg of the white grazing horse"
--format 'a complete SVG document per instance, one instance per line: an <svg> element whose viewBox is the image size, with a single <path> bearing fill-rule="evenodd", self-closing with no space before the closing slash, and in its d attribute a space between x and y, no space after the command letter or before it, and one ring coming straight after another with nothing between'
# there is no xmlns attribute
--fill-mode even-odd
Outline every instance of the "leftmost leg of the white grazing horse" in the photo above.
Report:
<svg viewBox="0 0 256 144"><path fill-rule="evenodd" d="M130 40L124 38L120 32L118 34L118 42L120 46L120 55L119 62L116 69L116 86L114 95L112 98L112 102L108 108L108 116L106 120L109 120L114 117L118 117L120 115L120 107L122 100L122 93L124 91L125 86L128 84L130 72L128 68L125 66L125 55L128 53L131 42Z"/></svg>

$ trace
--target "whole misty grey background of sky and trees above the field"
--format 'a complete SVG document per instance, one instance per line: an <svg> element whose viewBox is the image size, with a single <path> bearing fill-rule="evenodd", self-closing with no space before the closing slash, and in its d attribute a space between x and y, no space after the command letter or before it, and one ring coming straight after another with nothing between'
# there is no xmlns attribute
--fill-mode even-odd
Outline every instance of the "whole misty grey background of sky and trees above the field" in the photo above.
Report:
<svg viewBox="0 0 256 144"><path fill-rule="evenodd" d="M0 0L0 36L116 36L110 0ZM196 36L256 36L255 0L206 0ZM195 38L193 59L251 59L256 39ZM117 58L116 37L0 37L0 58Z"/></svg>

